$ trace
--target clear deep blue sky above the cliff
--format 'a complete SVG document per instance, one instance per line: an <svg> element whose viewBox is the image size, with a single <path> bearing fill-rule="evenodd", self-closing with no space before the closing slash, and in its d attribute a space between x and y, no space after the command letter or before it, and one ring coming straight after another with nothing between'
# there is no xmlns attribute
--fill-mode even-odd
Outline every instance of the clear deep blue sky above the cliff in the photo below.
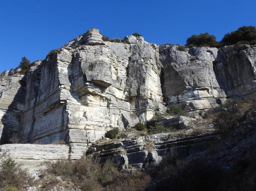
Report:
<svg viewBox="0 0 256 191"><path fill-rule="evenodd" d="M256 26L256 0L0 0L0 71L47 53L94 27L109 38L139 32L148 42L185 44L201 32L221 40Z"/></svg>

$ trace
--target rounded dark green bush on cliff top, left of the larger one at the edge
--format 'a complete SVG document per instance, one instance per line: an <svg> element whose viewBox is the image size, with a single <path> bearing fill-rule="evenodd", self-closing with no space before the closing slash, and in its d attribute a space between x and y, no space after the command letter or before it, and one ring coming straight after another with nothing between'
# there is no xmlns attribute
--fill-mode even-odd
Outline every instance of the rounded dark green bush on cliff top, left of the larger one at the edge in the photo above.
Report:
<svg viewBox="0 0 256 191"><path fill-rule="evenodd" d="M187 39L187 45L215 47L216 37L214 35L209 35L208 32L199 35L194 34Z"/></svg>

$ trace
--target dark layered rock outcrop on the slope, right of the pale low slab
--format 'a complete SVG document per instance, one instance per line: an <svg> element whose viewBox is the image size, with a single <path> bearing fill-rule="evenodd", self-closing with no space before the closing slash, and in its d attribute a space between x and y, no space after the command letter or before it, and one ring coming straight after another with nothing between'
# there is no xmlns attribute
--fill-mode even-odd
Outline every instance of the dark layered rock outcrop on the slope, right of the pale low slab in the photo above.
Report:
<svg viewBox="0 0 256 191"><path fill-rule="evenodd" d="M114 159L122 168L136 166L140 168L156 166L162 157L176 154L179 159L208 148L217 140L214 134L198 137L175 138L170 134L155 134L117 141L107 145L91 146L87 154L95 154L103 159Z"/></svg>

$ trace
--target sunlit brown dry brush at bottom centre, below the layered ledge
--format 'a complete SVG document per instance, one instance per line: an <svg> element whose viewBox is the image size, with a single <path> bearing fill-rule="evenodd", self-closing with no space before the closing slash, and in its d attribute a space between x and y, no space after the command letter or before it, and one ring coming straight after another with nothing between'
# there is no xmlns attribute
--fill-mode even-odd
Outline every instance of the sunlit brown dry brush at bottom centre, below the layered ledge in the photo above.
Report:
<svg viewBox="0 0 256 191"><path fill-rule="evenodd" d="M60 176L64 180L71 180L75 187L82 191L139 191L150 182L147 174L120 171L111 160L101 164L93 157L52 163L47 173Z"/></svg>

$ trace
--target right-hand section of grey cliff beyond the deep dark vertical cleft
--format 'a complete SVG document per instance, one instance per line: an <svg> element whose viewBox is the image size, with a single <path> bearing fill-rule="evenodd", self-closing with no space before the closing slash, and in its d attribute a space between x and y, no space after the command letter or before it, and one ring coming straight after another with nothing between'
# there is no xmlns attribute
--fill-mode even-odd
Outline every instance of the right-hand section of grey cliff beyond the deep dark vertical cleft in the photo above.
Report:
<svg viewBox="0 0 256 191"><path fill-rule="evenodd" d="M159 47L167 104L187 111L219 107L226 97L255 93L256 46Z"/></svg>

